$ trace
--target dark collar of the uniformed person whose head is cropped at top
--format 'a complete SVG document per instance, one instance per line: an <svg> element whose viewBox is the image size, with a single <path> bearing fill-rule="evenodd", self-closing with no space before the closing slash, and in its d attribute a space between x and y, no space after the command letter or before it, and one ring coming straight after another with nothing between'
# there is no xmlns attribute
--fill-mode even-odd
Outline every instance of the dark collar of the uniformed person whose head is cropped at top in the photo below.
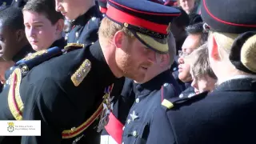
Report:
<svg viewBox="0 0 256 144"><path fill-rule="evenodd" d="M85 26L85 24L90 20L90 18L98 17L98 9L97 6L92 6L90 9L85 13L80 15L78 18L72 22L73 26Z"/></svg>

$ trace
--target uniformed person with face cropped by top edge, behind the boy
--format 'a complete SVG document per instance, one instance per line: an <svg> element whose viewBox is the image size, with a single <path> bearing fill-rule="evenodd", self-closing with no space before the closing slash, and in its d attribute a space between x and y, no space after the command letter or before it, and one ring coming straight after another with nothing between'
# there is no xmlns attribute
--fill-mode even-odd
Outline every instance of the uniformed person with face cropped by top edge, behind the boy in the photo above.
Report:
<svg viewBox="0 0 256 144"><path fill-rule="evenodd" d="M98 27L102 14L94 0L55 0L55 9L71 22L68 43L89 45L98 40Z"/></svg>

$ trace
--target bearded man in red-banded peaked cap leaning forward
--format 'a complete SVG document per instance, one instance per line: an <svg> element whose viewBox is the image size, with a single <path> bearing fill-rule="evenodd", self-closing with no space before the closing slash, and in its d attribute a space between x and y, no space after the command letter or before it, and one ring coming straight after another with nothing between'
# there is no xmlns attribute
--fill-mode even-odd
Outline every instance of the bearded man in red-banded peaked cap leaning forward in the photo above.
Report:
<svg viewBox="0 0 256 144"><path fill-rule="evenodd" d="M122 76L142 82L159 54L168 52L168 17L179 10L148 1L108 3L98 42L68 44L57 58L14 70L6 113L42 126L40 137L23 136L22 144L99 143L96 133L111 110L109 86Z"/></svg>

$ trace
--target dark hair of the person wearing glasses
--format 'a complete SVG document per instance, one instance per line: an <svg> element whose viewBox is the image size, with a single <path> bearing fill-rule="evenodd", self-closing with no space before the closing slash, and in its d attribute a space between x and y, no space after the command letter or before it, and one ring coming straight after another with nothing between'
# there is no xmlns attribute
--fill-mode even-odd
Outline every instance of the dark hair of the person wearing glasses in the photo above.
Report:
<svg viewBox="0 0 256 144"><path fill-rule="evenodd" d="M186 27L187 34L200 34L200 43L199 46L202 46L204 43L207 42L208 39L208 32L203 29L203 22L198 22L194 25L190 25Z"/></svg>

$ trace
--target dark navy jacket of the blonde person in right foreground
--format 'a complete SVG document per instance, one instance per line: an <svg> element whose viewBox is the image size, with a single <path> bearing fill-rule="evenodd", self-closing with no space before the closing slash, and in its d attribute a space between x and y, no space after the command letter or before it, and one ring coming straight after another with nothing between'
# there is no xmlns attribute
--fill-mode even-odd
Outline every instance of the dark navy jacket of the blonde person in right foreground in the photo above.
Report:
<svg viewBox="0 0 256 144"><path fill-rule="evenodd" d="M255 79L231 79L209 94L169 100L172 108L154 111L147 144L256 143Z"/></svg>

